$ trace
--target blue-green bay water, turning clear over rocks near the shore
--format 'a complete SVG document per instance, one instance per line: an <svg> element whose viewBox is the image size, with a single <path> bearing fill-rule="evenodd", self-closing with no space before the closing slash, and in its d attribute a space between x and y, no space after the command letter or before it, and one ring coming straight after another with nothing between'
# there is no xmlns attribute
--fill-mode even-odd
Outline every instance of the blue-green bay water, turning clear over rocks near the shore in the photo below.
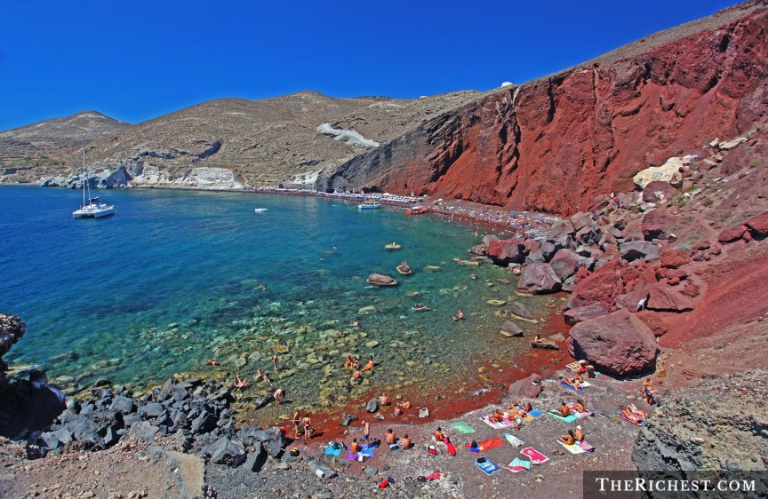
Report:
<svg viewBox="0 0 768 499"><path fill-rule="evenodd" d="M514 299L513 285L497 281L506 270L452 261L478 241L474 227L311 197L102 197L116 216L74 220L75 191L0 187L0 312L28 324L8 357L47 369L70 391L99 377L144 388L180 372L252 375L272 371L277 350L273 379L294 399L329 406L373 386L460 379L489 358L511 360L521 345L500 337L504 319L485 303ZM404 249L384 249L393 241ZM404 259L415 275L396 273ZM365 282L373 272L400 285L374 289ZM415 302L432 310L415 313ZM451 320L457 309L467 321ZM340 368L350 353L381 363L362 386ZM222 368L205 365L212 357Z"/></svg>

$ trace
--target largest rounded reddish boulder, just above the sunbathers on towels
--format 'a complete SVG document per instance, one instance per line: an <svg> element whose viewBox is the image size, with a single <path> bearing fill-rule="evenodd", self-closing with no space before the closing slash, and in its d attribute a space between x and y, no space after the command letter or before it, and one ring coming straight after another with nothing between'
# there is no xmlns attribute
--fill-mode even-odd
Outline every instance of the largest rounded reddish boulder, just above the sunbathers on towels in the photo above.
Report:
<svg viewBox="0 0 768 499"><path fill-rule="evenodd" d="M656 338L628 310L580 322L570 335L575 357L588 360L605 374L634 376L656 367Z"/></svg>

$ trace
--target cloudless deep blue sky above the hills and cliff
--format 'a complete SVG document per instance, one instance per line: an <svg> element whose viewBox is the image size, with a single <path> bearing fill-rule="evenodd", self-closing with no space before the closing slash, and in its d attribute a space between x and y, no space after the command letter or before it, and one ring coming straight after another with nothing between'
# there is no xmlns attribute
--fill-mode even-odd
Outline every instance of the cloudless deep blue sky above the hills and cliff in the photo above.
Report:
<svg viewBox="0 0 768 499"><path fill-rule="evenodd" d="M524 83L728 0L0 0L0 131L129 123L300 90L414 98Z"/></svg>

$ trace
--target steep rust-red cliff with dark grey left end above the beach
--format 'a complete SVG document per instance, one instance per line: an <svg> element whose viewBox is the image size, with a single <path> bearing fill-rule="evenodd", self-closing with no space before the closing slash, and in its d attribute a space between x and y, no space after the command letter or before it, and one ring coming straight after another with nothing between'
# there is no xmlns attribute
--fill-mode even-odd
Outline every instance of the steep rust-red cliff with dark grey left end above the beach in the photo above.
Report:
<svg viewBox="0 0 768 499"><path fill-rule="evenodd" d="M653 162L766 123L766 40L764 2L740 4L441 115L327 186L571 214Z"/></svg>

